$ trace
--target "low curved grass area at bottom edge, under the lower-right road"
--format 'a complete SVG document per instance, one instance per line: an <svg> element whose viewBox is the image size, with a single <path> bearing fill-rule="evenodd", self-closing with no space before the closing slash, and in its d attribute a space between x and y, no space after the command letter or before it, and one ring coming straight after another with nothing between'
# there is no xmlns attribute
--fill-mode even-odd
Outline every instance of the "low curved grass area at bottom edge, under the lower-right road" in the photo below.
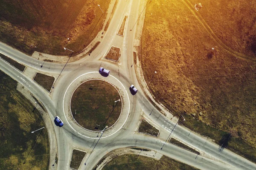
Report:
<svg viewBox="0 0 256 170"><path fill-rule="evenodd" d="M162 156L158 161L146 156L125 154L108 162L102 170L198 170L187 164Z"/></svg>

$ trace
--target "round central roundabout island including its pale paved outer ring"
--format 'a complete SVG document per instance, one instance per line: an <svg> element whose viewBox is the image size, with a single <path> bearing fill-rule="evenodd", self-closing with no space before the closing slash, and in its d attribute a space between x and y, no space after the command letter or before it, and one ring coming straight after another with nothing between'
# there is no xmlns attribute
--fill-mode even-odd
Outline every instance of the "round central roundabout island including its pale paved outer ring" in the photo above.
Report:
<svg viewBox="0 0 256 170"><path fill-rule="evenodd" d="M76 77L64 93L64 128L76 136L90 139L117 134L130 112L126 90L129 87L123 84L127 82L122 83L112 75L102 76L99 72Z"/></svg>

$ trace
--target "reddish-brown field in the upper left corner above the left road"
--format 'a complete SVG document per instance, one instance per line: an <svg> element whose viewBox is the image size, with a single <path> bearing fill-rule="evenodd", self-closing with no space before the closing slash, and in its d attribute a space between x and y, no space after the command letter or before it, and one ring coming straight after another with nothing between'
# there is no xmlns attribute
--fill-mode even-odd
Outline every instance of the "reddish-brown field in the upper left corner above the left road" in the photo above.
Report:
<svg viewBox="0 0 256 170"><path fill-rule="evenodd" d="M2 0L0 40L27 54L79 52L102 29L110 1Z"/></svg>

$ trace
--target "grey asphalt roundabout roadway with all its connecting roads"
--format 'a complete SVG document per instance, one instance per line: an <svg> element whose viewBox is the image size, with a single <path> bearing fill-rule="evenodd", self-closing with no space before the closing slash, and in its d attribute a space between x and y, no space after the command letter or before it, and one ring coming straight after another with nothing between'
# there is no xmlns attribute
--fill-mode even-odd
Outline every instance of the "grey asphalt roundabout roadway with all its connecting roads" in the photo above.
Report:
<svg viewBox="0 0 256 170"><path fill-rule="evenodd" d="M151 3L154 2L152 1ZM203 170L255 170L256 164L251 161L227 149L221 149L209 139L193 132L190 133L190 130L179 125L175 127L171 136L197 148L201 151L201 155L197 156L195 153L181 149L168 142L163 147L176 122L167 119L157 109L152 111L154 105L148 101L147 96L143 92L144 90L137 80L135 66L131 66L134 63L133 51L135 38L137 37L136 31L138 33L142 29L142 24L134 26L134 23L145 4L145 0L119 0L116 12L102 42L90 56L67 64L61 77L55 83L51 94L32 80L31 76L29 76L29 71L21 73L0 59L0 69L31 91L47 109L54 127L53 129L48 129L48 131L51 135L56 136L56 143L58 145L58 147L52 147L58 148L58 150L53 151L53 153L58 153L58 164L55 164L54 167L57 167L58 170L70 169L73 148L79 148L87 152L80 169L91 170L105 154L112 150L137 146L155 150ZM124 37L120 37L116 33L124 15L128 16L128 20ZM144 13L141 15L141 18L143 17ZM133 26L133 30L130 31ZM105 54L112 45L121 48L121 58L117 63L104 59ZM23 63L28 68L33 68L36 71L50 75L58 75L64 66L64 64L44 62L44 67L41 68L40 66L43 61L29 57L3 43L0 43L0 53ZM97 73L99 67L111 70L111 76L102 77ZM84 79L91 78L101 78L116 84L125 96L123 101L125 108L122 112L123 118L113 128L103 133L102 139L99 140L95 148L94 146L99 139L97 133L84 130L76 125L72 116L68 113L70 105L68 96L70 93L73 93L72 88L76 87ZM131 84L134 84L139 89L138 93L134 96L129 92ZM149 115L150 113L151 115ZM64 126L61 128L56 127L53 122L54 117L57 115L64 121ZM147 136L137 132L142 116L160 129L160 136ZM162 147L163 149L161 150ZM91 153L92 150L93 152ZM49 169L54 164L52 157L55 157L55 155L51 155Z"/></svg>

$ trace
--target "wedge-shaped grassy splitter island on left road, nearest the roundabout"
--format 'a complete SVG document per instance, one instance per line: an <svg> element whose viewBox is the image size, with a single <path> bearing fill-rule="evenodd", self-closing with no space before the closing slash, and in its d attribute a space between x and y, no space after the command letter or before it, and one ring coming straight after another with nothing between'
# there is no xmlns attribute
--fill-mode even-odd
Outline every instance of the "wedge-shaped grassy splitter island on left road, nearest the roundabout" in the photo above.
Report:
<svg viewBox="0 0 256 170"><path fill-rule="evenodd" d="M50 93L55 77L37 72L33 80Z"/></svg>

